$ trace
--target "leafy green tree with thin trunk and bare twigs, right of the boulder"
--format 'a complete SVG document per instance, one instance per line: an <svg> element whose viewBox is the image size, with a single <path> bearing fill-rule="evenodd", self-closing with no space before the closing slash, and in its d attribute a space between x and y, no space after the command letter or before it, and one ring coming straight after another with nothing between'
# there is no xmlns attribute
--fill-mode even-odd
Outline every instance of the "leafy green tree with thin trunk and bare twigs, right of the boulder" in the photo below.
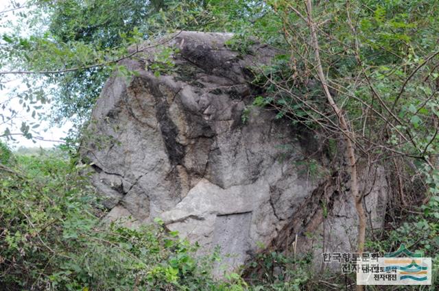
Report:
<svg viewBox="0 0 439 291"><path fill-rule="evenodd" d="M404 157L414 160L405 169L399 163L398 175L409 165L426 177L437 171L439 51L427 36L437 29L437 3L420 1L416 8L402 1L268 3L280 21L266 25L283 31L285 41L279 45L287 53L278 55L274 66L259 68L259 81L269 93L257 104L320 128L325 138L343 138L361 252L366 192L359 189L357 166L397 164ZM435 19L425 21L425 15ZM430 188L427 199L436 188ZM399 195L405 197L401 188Z"/></svg>

